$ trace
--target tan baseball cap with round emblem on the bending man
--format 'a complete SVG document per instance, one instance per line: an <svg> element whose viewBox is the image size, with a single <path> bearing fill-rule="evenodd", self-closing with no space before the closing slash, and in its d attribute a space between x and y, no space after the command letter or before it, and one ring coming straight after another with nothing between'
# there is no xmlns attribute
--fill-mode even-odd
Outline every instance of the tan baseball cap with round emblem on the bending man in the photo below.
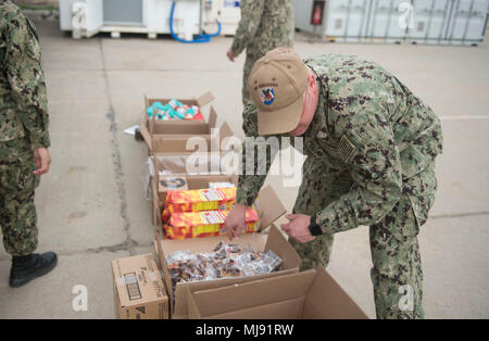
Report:
<svg viewBox="0 0 489 341"><path fill-rule="evenodd" d="M289 48L267 52L254 64L248 90L256 104L260 135L292 131L303 109L308 68Z"/></svg>

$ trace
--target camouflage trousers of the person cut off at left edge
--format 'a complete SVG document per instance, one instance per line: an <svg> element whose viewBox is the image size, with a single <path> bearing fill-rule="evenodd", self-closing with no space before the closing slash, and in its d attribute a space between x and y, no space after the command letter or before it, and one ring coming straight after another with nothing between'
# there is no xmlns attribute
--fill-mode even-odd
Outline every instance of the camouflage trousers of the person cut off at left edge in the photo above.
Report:
<svg viewBox="0 0 489 341"><path fill-rule="evenodd" d="M34 151L25 138L0 142L0 226L5 251L13 256L37 249L34 190L39 185Z"/></svg>

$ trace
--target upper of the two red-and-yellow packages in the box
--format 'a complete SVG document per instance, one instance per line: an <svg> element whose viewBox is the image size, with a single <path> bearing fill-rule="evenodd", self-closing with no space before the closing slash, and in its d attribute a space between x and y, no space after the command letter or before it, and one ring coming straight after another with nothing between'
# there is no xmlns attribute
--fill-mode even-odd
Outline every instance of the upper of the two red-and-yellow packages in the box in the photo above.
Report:
<svg viewBox="0 0 489 341"><path fill-rule="evenodd" d="M167 191L163 222L176 212L226 211L236 201L236 187Z"/></svg>

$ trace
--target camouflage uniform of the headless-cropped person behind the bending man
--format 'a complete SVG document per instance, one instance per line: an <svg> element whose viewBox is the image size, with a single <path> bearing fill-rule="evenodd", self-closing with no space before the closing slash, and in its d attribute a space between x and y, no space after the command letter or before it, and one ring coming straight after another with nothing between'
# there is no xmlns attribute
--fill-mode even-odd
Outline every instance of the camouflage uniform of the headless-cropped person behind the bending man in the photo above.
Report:
<svg viewBox="0 0 489 341"><path fill-rule="evenodd" d="M241 0L241 20L231 51L238 56L247 49L242 75L242 103L250 99L247 81L254 63L266 52L293 46L292 0Z"/></svg>

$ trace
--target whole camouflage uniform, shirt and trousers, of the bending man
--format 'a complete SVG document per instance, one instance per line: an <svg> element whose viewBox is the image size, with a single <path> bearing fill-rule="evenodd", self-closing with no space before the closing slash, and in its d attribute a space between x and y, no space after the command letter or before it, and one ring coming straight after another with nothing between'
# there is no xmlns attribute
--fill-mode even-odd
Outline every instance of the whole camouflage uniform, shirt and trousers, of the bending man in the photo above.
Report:
<svg viewBox="0 0 489 341"><path fill-rule="evenodd" d="M316 74L319 100L302 136L308 159L293 211L316 215L324 233L309 243L291 242L304 268L326 266L334 233L369 226L377 317L423 318L417 233L437 189L439 118L371 61L322 55L305 64ZM258 136L254 104L246 106L243 117L246 135ZM243 157L250 155L250 148L243 149ZM275 156L268 154L266 161L251 157L251 167L266 162L268 169ZM241 175L237 201L252 203L265 177ZM408 294L413 300L405 310Z"/></svg>

